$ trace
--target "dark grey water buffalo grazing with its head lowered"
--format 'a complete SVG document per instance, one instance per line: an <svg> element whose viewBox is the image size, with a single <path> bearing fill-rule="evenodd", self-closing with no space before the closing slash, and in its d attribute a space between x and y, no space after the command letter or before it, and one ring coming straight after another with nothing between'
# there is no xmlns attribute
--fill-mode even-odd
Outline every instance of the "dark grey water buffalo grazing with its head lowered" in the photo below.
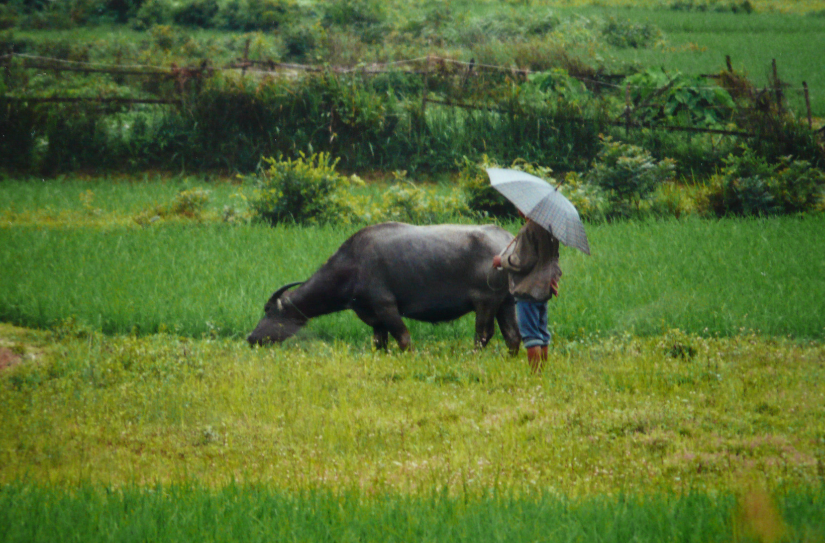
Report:
<svg viewBox="0 0 825 543"><path fill-rule="evenodd" d="M309 319L352 309L372 327L375 347L386 349L391 333L404 351L410 333L402 317L438 323L475 311L476 344L487 345L496 319L515 353L521 340L516 303L506 272L492 267L493 255L511 240L512 234L493 224L368 226L309 280L276 290L247 341L252 346L281 342Z"/></svg>

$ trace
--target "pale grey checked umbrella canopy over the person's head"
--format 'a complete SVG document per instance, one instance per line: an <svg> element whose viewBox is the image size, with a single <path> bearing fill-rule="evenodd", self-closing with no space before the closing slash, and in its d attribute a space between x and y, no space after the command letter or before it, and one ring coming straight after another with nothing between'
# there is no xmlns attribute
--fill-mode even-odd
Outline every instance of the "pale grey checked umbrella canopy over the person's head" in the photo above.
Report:
<svg viewBox="0 0 825 543"><path fill-rule="evenodd" d="M540 177L503 168L487 168L490 183L528 218L535 220L561 243L590 254L584 224L570 201Z"/></svg>

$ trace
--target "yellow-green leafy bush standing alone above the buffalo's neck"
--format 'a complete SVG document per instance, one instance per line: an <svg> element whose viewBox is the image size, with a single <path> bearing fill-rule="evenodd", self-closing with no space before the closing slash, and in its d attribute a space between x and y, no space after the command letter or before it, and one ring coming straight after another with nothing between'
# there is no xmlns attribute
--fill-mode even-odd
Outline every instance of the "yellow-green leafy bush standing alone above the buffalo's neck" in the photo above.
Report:
<svg viewBox="0 0 825 543"><path fill-rule="evenodd" d="M257 217L270 224L338 222L348 215L342 191L350 180L335 171L338 159L328 153L307 158L266 158L269 168L256 178L249 205Z"/></svg>

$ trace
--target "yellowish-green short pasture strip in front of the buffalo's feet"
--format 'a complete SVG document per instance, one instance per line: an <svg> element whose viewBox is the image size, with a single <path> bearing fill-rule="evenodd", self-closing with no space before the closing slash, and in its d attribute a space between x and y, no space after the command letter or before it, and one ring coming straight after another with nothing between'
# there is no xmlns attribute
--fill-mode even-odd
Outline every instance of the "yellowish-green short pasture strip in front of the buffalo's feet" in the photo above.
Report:
<svg viewBox="0 0 825 543"><path fill-rule="evenodd" d="M481 495L812 489L821 343L671 330L554 347L533 375L462 339L365 352L304 339L0 327L0 483L233 480Z"/></svg>

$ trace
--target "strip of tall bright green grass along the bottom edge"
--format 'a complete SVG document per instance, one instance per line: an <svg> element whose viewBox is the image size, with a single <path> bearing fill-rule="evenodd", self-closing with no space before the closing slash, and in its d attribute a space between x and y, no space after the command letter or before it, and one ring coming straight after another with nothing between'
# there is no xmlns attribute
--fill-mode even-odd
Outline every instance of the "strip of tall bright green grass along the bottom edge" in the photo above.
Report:
<svg viewBox="0 0 825 543"><path fill-rule="evenodd" d="M808 505L812 501L818 511ZM790 537L783 541L822 537L822 505L821 491L785 496ZM737 539L735 513L733 496L698 493L582 501L491 493L465 501L442 493L426 498L323 490L291 494L244 485L211 490L197 484L149 489L13 484L0 489L0 539L710 542ZM761 541L758 536L754 539Z"/></svg>

